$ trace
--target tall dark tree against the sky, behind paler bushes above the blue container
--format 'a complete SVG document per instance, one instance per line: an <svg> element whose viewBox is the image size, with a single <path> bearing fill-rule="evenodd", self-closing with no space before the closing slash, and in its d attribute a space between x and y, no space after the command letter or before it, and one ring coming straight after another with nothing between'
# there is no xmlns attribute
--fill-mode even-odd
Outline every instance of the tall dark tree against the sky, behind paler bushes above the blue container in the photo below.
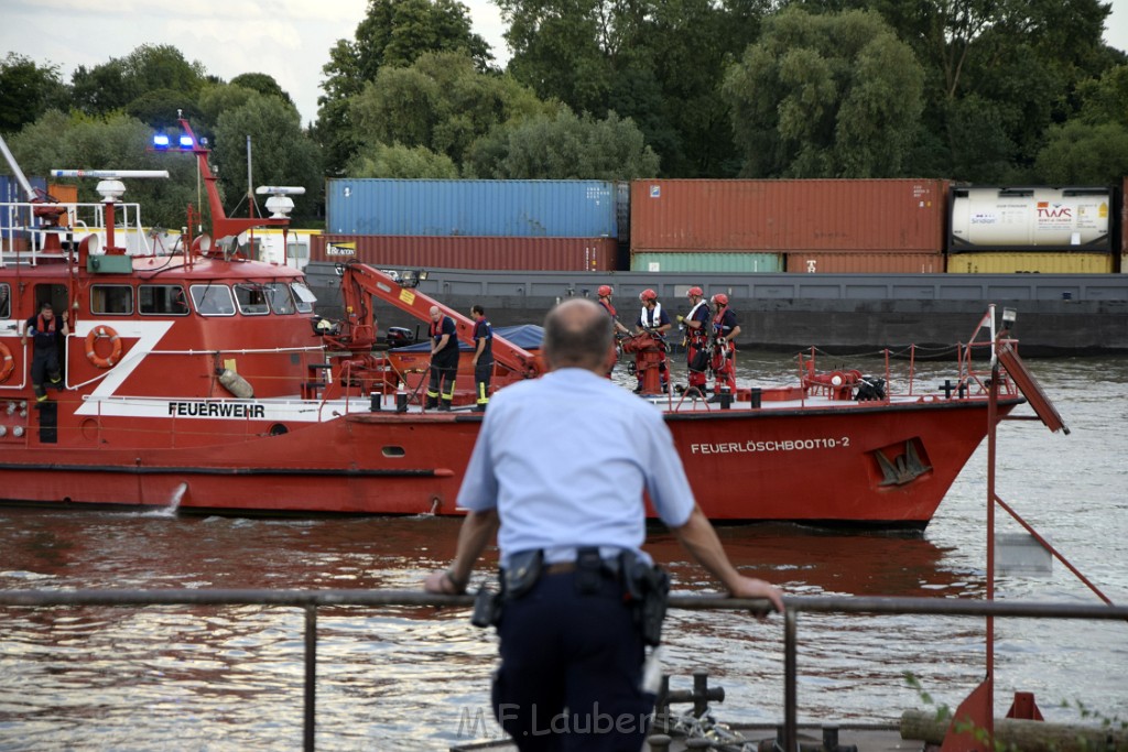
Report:
<svg viewBox="0 0 1128 752"><path fill-rule="evenodd" d="M469 10L457 0L370 0L353 41L338 39L321 71L315 134L331 174L340 174L360 142L350 121L350 100L385 67L406 68L429 52L462 51L478 70L493 59L472 32Z"/></svg>

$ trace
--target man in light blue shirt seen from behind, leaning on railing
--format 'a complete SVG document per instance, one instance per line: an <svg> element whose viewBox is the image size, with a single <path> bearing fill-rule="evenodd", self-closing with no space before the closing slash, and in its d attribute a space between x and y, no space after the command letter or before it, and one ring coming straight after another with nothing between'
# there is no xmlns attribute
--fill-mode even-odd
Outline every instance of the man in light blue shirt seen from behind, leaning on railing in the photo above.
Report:
<svg viewBox="0 0 1128 752"><path fill-rule="evenodd" d="M455 561L425 587L465 591L495 531L503 569L541 551L541 575L505 600L497 626L497 720L522 752L636 751L654 698L641 688L644 646L615 557L642 555L643 493L732 595L767 598L779 611L783 600L729 561L661 412L607 380L610 317L584 299L557 306L545 319L544 356L550 373L491 400L458 495L469 513ZM598 550L601 582L581 575L580 549Z"/></svg>

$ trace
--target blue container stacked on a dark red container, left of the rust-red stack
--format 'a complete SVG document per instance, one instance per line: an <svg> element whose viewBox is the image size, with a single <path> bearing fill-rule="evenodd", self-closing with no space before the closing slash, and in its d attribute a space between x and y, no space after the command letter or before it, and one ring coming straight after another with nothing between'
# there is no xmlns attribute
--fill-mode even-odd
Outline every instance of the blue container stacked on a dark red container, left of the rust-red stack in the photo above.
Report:
<svg viewBox="0 0 1128 752"><path fill-rule="evenodd" d="M310 260L614 271L626 193L605 180L332 179L326 231L312 239Z"/></svg>

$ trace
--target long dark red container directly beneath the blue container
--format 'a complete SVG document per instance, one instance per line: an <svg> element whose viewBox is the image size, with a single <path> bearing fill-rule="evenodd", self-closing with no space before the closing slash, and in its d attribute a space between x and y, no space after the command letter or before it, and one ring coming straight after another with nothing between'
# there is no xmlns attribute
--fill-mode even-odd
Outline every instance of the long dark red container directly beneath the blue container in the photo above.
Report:
<svg viewBox="0 0 1128 752"><path fill-rule="evenodd" d="M380 267L614 272L617 256L615 238L323 235L311 238L309 258Z"/></svg>

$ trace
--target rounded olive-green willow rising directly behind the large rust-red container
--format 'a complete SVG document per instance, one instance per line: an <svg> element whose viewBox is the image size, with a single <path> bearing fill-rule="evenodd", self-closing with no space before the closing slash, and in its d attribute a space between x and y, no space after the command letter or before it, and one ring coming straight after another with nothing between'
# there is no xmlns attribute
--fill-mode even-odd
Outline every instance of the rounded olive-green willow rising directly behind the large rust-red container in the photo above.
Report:
<svg viewBox="0 0 1128 752"><path fill-rule="evenodd" d="M924 103L907 45L865 11L787 10L725 79L748 177L901 175Z"/></svg>

